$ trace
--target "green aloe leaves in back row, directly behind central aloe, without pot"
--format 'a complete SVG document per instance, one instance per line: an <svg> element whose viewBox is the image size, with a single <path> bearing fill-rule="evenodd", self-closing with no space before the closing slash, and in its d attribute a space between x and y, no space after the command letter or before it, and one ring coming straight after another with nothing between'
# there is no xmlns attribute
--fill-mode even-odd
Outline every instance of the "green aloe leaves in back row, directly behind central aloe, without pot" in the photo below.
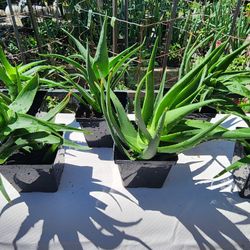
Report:
<svg viewBox="0 0 250 250"><path fill-rule="evenodd" d="M101 76L107 78L109 72L113 72L111 88L114 89L119 80L124 75L130 59L142 46L133 45L124 50L120 54L109 57L107 48L107 18L105 18L100 33L100 39L97 45L95 56L92 57L90 49L84 47L82 43L73 35L65 31L70 39L74 42L78 49L78 54L68 57L59 54L48 54L46 57L57 58L69 64L76 71L75 73L67 73L61 76L67 82L62 83L62 87L71 89L72 87L79 91L79 94L73 93L76 99L83 104L89 105L95 112L102 113L101 98L100 98L100 82ZM83 80L88 87L88 90L78 83L78 80Z"/></svg>

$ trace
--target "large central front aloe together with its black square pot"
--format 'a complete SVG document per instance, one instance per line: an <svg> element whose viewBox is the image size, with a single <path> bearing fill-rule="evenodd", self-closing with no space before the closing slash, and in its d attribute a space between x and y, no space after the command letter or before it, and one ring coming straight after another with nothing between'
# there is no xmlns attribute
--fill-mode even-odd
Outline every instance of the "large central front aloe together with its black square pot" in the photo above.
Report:
<svg viewBox="0 0 250 250"><path fill-rule="evenodd" d="M228 131L220 124L229 116L216 123L188 119L188 115L210 104L227 105L227 100L214 98L197 101L206 87L199 76L207 65L219 59L224 49L216 48L202 62L182 77L166 94L163 76L159 92L154 97L153 66L157 40L151 55L147 74L139 83L135 96L135 122L130 121L121 103L110 89L112 72L102 84L102 109L115 142L114 160L118 164L124 186L161 187L177 154L197 144L214 139L246 139L250 133L242 130ZM145 97L141 104L140 93L146 85ZM106 90L106 94L105 94ZM231 110L234 110L231 107ZM237 110L235 111L237 113ZM243 116L246 121L249 118ZM250 132L250 129L248 129ZM243 136L243 137L242 137ZM169 158L169 164L167 160Z"/></svg>

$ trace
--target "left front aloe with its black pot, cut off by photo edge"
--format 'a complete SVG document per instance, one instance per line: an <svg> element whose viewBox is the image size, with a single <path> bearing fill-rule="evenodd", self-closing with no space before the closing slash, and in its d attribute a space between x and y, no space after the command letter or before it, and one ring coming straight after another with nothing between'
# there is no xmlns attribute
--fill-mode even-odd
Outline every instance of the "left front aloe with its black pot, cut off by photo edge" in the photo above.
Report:
<svg viewBox="0 0 250 250"><path fill-rule="evenodd" d="M65 131L82 130L53 122L70 94L40 119L27 114L38 87L35 76L14 101L0 97L0 174L20 192L55 192L64 166L62 146L87 149L63 137Z"/></svg>

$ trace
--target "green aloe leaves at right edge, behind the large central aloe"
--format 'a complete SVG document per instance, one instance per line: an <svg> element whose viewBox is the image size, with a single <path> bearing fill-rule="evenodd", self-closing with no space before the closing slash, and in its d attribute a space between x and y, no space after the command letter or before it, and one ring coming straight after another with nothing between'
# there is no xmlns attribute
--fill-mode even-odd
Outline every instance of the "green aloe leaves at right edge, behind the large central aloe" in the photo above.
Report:
<svg viewBox="0 0 250 250"><path fill-rule="evenodd" d="M219 35L218 35L219 36ZM208 50L206 56L217 51L216 42L218 39L216 36ZM194 68L199 61L203 58L197 58L193 60L194 54L197 50L206 45L212 38L209 36L201 42L196 42L191 46L191 36L186 47L184 57L179 72L179 80L184 77L192 68ZM228 40L219 46L217 54L211 59L211 62L206 65L202 73L197 77L195 81L200 81L200 84L206 86L206 88L200 92L199 99L205 100L206 98L219 97L227 102L227 105L217 105L216 108L219 112L225 112L225 110L231 112L237 112L237 115L244 114L243 109L238 105L236 107L233 102L234 98L250 98L249 82L250 82L250 71L239 70L230 71L228 70L230 64L239 56L250 43L245 43L238 49L232 51L229 54L224 54L228 50ZM233 109L231 109L233 108ZM205 109L206 110L206 109ZM207 116L213 117L215 115L214 109L207 109ZM210 112L210 113L209 113Z"/></svg>

